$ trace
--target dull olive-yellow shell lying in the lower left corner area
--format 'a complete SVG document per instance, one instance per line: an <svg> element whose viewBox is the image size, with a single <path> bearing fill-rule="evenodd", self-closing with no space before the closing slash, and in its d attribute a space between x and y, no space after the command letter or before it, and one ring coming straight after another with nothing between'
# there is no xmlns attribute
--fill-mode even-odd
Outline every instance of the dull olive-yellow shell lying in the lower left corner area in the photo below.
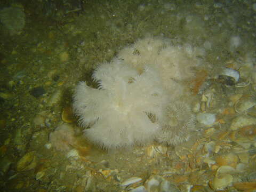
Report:
<svg viewBox="0 0 256 192"><path fill-rule="evenodd" d="M17 171L28 171L36 167L35 151L25 154L17 163Z"/></svg>

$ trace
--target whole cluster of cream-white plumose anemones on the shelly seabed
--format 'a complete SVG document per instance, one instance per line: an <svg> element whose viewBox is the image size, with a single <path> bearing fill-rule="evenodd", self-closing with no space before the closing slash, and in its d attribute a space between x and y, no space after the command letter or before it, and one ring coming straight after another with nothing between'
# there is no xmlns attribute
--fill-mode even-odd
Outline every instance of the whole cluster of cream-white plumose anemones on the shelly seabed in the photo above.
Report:
<svg viewBox="0 0 256 192"><path fill-rule="evenodd" d="M101 63L92 75L97 89L86 82L75 88L73 107L85 137L106 149L186 141L194 115L178 98L188 94L185 82L200 65L198 54L196 48L148 37ZM175 117L177 124L170 125Z"/></svg>

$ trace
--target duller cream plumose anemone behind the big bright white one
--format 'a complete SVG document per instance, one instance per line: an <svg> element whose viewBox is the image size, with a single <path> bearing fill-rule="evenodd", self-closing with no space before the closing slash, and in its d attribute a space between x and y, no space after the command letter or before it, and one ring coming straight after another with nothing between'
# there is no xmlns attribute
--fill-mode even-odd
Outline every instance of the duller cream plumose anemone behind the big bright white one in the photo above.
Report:
<svg viewBox="0 0 256 192"><path fill-rule="evenodd" d="M156 70L164 89L172 98L179 98L187 88L184 82L195 77L193 68L201 65L197 56L202 54L190 45L174 46L170 39L147 37L122 49L118 57L139 73L145 66Z"/></svg>

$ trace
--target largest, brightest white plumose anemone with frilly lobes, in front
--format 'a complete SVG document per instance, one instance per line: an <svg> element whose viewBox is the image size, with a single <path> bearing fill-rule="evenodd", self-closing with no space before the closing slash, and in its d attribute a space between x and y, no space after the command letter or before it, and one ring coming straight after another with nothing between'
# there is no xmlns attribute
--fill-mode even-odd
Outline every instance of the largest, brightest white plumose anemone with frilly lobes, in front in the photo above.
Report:
<svg viewBox="0 0 256 192"><path fill-rule="evenodd" d="M155 138L164 119L166 93L161 77L150 67L138 72L115 58L93 74L93 89L80 82L75 89L74 110L85 136L106 149L143 144Z"/></svg>

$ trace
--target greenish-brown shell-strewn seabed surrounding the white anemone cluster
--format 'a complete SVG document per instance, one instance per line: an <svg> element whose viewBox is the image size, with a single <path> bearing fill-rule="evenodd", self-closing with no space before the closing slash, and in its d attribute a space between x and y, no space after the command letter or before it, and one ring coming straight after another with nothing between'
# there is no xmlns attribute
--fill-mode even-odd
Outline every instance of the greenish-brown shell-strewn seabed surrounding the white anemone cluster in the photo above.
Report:
<svg viewBox="0 0 256 192"><path fill-rule="evenodd" d="M255 13L254 1L1 2L3 191L143 191L135 190L140 186L147 191L238 191L237 183L255 186ZM191 69L194 76L182 82L187 103L194 115L212 113L216 119L209 126L196 122L190 140L175 147L153 141L102 150L85 140L84 128L70 114L63 117L63 111L72 105L79 81L96 88L95 67L147 37L196 54L191 56L200 61ZM222 67L234 71L223 74ZM230 128L241 116L250 119ZM56 150L49 140L63 121L73 130L71 139L62 138L71 151ZM225 173L218 171L223 165L229 166ZM132 177L141 180L126 186ZM158 184L150 189L152 178Z"/></svg>

